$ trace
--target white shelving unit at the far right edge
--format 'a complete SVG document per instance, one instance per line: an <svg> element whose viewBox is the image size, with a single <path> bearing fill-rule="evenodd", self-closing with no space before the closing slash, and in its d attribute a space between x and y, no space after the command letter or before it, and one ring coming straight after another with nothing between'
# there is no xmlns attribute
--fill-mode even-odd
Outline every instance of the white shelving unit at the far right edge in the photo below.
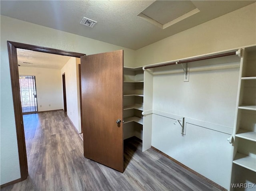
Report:
<svg viewBox="0 0 256 191"><path fill-rule="evenodd" d="M233 145L231 183L256 183L255 46L243 49L242 53Z"/></svg>

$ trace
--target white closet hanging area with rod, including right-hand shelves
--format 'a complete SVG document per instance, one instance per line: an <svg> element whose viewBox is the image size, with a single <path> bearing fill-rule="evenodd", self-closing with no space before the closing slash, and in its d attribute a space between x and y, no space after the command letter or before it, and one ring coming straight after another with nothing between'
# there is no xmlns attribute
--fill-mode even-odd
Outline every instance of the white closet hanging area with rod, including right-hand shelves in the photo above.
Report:
<svg viewBox="0 0 256 191"><path fill-rule="evenodd" d="M228 190L256 183L256 46L143 70L145 150L150 142Z"/></svg>

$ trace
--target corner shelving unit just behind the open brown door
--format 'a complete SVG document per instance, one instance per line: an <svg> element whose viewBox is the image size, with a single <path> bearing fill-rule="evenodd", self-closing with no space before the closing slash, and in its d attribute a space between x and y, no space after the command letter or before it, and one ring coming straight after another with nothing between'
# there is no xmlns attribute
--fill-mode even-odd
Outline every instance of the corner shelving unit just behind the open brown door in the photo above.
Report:
<svg viewBox="0 0 256 191"><path fill-rule="evenodd" d="M124 134L123 138L136 136L142 140L144 77L142 67L124 67Z"/></svg>

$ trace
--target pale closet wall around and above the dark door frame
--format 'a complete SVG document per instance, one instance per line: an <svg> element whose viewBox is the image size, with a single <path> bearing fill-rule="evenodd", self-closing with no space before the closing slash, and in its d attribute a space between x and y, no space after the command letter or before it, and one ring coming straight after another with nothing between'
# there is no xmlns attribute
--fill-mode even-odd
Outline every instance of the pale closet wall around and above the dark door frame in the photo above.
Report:
<svg viewBox="0 0 256 191"><path fill-rule="evenodd" d="M7 41L27 43L86 55L124 49L124 65L133 67L134 50L39 26L17 19L0 16L1 55L1 173L0 184L20 178L16 126Z"/></svg>

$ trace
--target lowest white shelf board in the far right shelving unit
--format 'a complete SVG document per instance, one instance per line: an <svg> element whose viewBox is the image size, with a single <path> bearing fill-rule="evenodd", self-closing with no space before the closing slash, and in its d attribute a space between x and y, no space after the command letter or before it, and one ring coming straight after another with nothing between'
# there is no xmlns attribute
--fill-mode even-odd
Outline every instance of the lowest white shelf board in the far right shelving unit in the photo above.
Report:
<svg viewBox="0 0 256 191"><path fill-rule="evenodd" d="M233 163L256 172L256 158L241 153L236 153Z"/></svg>

